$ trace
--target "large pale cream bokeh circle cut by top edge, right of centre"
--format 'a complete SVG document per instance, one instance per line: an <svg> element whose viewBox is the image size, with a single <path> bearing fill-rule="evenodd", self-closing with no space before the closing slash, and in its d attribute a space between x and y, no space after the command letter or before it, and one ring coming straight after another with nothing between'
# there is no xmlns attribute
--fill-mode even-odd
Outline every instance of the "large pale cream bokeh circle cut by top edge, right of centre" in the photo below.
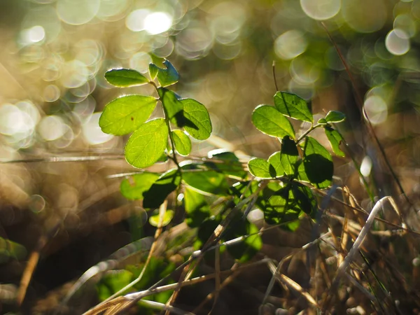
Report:
<svg viewBox="0 0 420 315"><path fill-rule="evenodd" d="M341 0L300 0L302 10L314 20L328 20L339 12Z"/></svg>

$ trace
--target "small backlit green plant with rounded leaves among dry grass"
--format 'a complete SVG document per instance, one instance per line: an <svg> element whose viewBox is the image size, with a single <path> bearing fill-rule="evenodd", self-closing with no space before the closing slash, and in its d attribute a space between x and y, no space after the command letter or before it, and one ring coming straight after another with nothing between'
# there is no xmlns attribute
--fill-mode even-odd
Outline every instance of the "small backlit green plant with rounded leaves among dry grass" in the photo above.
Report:
<svg viewBox="0 0 420 315"><path fill-rule="evenodd" d="M176 192L174 209L167 210L165 216L151 216L149 223L165 226L172 221L174 211L183 209L187 225L197 231L196 249L206 245L209 248L209 240L216 244L246 235L241 243L227 248L237 262L246 262L262 246L258 228L244 220L253 207L263 211L267 223L289 230L299 226L301 216L314 217L318 205L311 188L331 185L333 163L328 150L309 134L323 128L332 151L344 156L339 149L342 136L332 127L333 123L344 120L344 114L330 111L314 123L304 99L288 92L276 92L274 106L257 106L252 121L260 132L279 139L281 151L273 153L268 160L251 158L247 169L235 153L224 150L211 151L206 158L188 158L192 147L190 137L208 139L211 120L203 104L182 99L167 89L179 80L179 73L169 61L163 64L165 69L150 64L150 79L132 69L106 72L106 80L116 87L151 84L157 97L119 97L106 105L99 120L106 133L132 133L125 146L125 158L132 166L144 169L156 162L173 162L174 167L163 174L141 170L121 183L121 193L127 199L142 200L143 207L151 210ZM158 101L162 105L162 117L149 120ZM289 118L310 123L310 127L297 137ZM177 200L182 200L183 207L178 207ZM99 290L102 298L134 283L135 276L125 278L118 288L106 294Z"/></svg>

